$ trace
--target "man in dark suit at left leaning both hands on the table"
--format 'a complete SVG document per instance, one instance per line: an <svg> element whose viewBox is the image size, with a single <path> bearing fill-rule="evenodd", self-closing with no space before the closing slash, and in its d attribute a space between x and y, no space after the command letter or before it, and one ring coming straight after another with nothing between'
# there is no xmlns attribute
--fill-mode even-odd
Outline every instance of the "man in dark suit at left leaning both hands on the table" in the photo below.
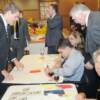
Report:
<svg viewBox="0 0 100 100"><path fill-rule="evenodd" d="M13 76L5 70L8 63L9 54L12 55L12 61L17 68L22 64L15 58L13 49L10 47L11 32L8 24L13 25L19 19L19 8L11 3L5 6L0 15L0 82L5 78L12 80Z"/></svg>

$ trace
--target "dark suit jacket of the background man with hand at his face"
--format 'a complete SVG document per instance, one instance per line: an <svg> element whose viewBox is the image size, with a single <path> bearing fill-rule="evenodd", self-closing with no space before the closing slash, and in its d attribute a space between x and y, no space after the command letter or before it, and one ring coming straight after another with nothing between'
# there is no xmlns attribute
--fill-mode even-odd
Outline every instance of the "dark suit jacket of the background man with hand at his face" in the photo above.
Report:
<svg viewBox="0 0 100 100"><path fill-rule="evenodd" d="M58 45L59 40L63 37L62 28L62 18L59 15L47 19L46 46Z"/></svg>

